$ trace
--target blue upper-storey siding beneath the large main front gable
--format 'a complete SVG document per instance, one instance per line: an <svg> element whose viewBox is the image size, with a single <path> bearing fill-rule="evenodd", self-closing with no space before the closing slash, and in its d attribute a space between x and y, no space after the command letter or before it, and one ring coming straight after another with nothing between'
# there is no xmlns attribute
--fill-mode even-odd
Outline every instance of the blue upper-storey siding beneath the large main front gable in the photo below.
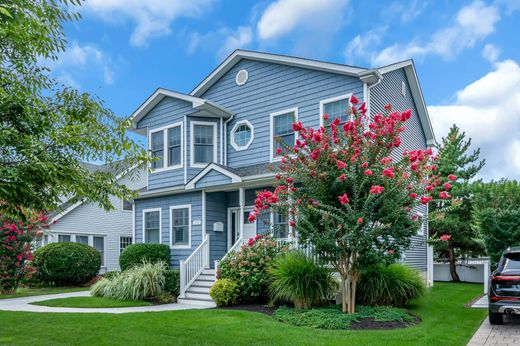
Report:
<svg viewBox="0 0 520 346"><path fill-rule="evenodd" d="M245 85L235 83L235 75L246 69ZM242 60L211 86L202 97L235 113L227 126L228 166L242 167L269 162L270 113L298 107L298 119L306 126L319 127L320 100L354 93L363 99L363 83L355 77L299 67ZM230 144L236 122L249 120L254 140L246 150Z"/></svg>

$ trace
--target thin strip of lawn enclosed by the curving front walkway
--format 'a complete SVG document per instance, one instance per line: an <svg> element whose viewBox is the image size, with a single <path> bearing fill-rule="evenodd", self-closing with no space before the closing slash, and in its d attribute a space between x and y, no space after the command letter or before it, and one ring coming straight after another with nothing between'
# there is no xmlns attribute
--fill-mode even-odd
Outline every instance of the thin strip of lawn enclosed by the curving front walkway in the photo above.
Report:
<svg viewBox="0 0 520 346"><path fill-rule="evenodd" d="M33 305L52 306L57 308L126 308L129 306L150 306L149 302L133 300L115 300L101 297L69 297L43 300Z"/></svg>

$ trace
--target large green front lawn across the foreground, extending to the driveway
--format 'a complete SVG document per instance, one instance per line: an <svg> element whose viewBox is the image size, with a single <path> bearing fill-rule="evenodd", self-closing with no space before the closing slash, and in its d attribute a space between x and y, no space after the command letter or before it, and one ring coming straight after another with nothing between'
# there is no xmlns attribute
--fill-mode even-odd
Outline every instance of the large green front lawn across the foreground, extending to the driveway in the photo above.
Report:
<svg viewBox="0 0 520 346"><path fill-rule="evenodd" d="M395 330L294 327L253 312L186 310L133 314L0 312L0 343L16 345L466 345L486 310L464 307L482 285L437 283L410 306L422 318ZM23 329L20 329L23 326Z"/></svg>

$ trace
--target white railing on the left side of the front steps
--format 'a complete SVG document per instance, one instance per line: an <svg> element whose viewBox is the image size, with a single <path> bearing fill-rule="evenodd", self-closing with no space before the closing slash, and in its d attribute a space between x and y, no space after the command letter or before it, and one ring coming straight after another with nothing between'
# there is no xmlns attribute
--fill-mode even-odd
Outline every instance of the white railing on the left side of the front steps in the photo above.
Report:
<svg viewBox="0 0 520 346"><path fill-rule="evenodd" d="M200 243L185 261L180 261L180 292L179 298L184 298L186 290L206 268L209 268L209 237Z"/></svg>

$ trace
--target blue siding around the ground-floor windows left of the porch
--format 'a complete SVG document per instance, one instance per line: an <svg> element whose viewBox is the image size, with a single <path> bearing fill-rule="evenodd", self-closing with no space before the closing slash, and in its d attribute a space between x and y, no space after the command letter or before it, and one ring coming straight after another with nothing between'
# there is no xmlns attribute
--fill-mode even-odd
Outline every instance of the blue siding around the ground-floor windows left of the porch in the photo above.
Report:
<svg viewBox="0 0 520 346"><path fill-rule="evenodd" d="M161 243L170 245L170 206L191 205L191 248L172 249L171 264L179 267L179 260L186 259L202 242L202 193L189 192L178 195L137 199L135 202L135 243L143 242L143 210L161 209ZM194 225L196 221L200 224Z"/></svg>

